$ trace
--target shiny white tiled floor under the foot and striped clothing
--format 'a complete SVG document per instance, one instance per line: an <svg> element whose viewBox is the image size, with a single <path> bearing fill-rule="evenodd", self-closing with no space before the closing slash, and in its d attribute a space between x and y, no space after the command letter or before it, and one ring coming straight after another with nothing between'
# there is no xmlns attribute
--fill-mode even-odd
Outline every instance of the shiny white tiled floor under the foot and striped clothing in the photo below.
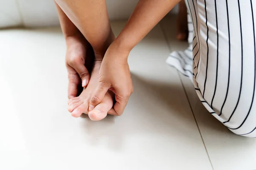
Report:
<svg viewBox="0 0 256 170"><path fill-rule="evenodd" d="M256 169L256 139L216 121L189 80L165 63L170 50L186 48L174 39L173 20L133 49L134 94L122 116L100 122L66 109L60 28L1 30L0 169ZM115 34L124 24L112 23Z"/></svg>

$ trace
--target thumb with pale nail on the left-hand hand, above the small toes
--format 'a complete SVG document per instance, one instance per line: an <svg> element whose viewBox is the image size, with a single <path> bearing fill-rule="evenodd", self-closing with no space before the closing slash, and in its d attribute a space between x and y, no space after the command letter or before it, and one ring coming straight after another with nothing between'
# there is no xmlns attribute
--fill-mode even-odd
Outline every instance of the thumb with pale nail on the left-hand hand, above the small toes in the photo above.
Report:
<svg viewBox="0 0 256 170"><path fill-rule="evenodd" d="M73 66L73 68L79 74L79 77L82 80L82 86L86 87L90 80L90 74L87 68L82 63L77 63L76 65Z"/></svg>

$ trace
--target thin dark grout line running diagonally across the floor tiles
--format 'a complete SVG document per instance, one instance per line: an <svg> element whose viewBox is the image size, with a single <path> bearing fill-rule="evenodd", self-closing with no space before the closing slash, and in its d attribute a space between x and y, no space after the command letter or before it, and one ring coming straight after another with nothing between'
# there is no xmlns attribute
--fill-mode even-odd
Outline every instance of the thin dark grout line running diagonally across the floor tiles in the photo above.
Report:
<svg viewBox="0 0 256 170"><path fill-rule="evenodd" d="M168 38L167 38L167 35L166 35L165 31L163 30L163 27L161 26L161 23L159 23L159 25L160 25L160 28L161 28L163 37L164 37L164 39L165 39L165 41L166 41L166 43L167 43L167 46L168 46L168 48L169 48L169 51L171 52L171 48L170 48L170 46L169 46L169 40L168 40ZM179 76L179 79L180 79L180 82L181 82L181 84L182 84L183 90L184 90L184 92L185 92L186 98L187 98L187 100L188 100L188 102L189 102L189 107L190 107L190 110L192 111L192 115L193 115L193 117L194 117L195 124L196 124L196 126L197 126L197 128L198 128L198 132L199 132L199 134L200 134L200 136L201 136L201 140L202 140L202 142L203 142L203 144L204 144L205 151L206 151L206 153L207 153L208 159L209 159L210 164L211 164L211 166L212 166L212 161L211 161L211 159L210 159L210 157L209 157L209 153L208 153L207 148L206 148L206 145L205 145L205 143L204 143L204 139L203 139L201 130L200 130L199 126L198 126L198 122L196 121L194 111L193 111L192 106L191 106L190 101L189 101L189 97L188 97L188 95L187 95L187 93L186 93L186 89L185 89L185 87L184 87L184 85L183 85L182 79L181 79L181 77L180 77L180 73L179 73L178 71L177 71L177 74L178 74L178 76ZM214 170L213 166L212 166L212 170Z"/></svg>

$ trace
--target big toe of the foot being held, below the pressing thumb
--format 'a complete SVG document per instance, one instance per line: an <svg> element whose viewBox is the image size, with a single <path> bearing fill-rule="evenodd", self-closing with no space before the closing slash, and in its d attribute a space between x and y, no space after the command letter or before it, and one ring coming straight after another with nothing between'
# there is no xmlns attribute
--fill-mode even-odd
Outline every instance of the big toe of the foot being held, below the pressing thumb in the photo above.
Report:
<svg viewBox="0 0 256 170"><path fill-rule="evenodd" d="M102 102L100 102L99 105L97 105L92 111L90 111L88 116L93 121L102 120L107 116L108 111L112 108L112 106L113 99L106 94Z"/></svg>

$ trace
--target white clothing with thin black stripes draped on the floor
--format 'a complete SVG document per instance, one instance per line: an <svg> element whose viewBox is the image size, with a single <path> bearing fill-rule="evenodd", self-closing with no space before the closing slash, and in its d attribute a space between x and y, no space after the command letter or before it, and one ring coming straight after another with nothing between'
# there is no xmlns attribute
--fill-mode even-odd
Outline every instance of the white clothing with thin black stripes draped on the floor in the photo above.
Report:
<svg viewBox="0 0 256 170"><path fill-rule="evenodd" d="M212 116L256 137L256 0L186 0L189 48L166 62L189 77Z"/></svg>

